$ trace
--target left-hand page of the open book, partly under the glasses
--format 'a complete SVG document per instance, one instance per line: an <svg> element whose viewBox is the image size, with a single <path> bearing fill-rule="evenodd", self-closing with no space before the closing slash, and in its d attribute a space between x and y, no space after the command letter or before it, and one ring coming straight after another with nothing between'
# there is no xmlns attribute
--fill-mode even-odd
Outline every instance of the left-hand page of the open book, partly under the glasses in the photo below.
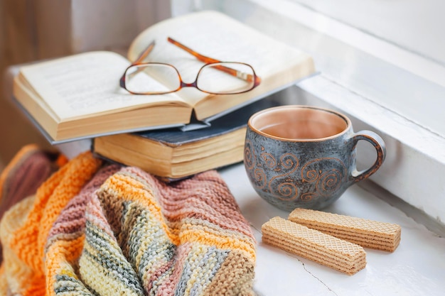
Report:
<svg viewBox="0 0 445 296"><path fill-rule="evenodd" d="M102 51L27 65L20 71L33 91L62 120L148 105L186 105L174 94L129 94L119 87L119 78L128 66L124 57Z"/></svg>

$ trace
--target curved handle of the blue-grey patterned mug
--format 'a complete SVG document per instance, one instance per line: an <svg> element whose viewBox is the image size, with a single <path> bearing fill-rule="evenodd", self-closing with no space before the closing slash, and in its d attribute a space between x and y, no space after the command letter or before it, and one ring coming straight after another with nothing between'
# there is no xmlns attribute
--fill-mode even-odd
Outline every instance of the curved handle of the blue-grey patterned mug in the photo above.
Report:
<svg viewBox="0 0 445 296"><path fill-rule="evenodd" d="M357 175L353 175L353 182L358 182L360 180L364 180L373 173L375 173L378 168L383 163L383 160L385 160L386 157L386 146L383 139L377 135L377 133L374 133L373 131L359 131L358 133L355 133L353 136L353 150L355 149L355 146L357 146L358 141L363 140L367 141L374 146L375 150L377 151L377 159L375 160L375 163L368 168L368 170L362 170L357 173Z"/></svg>

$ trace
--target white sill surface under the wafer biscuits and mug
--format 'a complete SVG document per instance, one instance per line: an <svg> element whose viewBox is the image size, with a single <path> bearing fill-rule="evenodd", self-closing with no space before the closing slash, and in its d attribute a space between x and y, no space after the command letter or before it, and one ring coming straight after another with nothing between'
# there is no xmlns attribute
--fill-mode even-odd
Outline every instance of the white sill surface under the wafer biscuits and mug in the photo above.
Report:
<svg viewBox="0 0 445 296"><path fill-rule="evenodd" d="M402 226L402 239L394 253L366 248L366 268L345 275L262 243L262 224L273 216L286 218L288 213L254 192L243 165L220 172L257 239L254 289L258 295L444 295L445 239L414 221L415 216L407 216L380 199L384 196L353 185L325 209Z"/></svg>

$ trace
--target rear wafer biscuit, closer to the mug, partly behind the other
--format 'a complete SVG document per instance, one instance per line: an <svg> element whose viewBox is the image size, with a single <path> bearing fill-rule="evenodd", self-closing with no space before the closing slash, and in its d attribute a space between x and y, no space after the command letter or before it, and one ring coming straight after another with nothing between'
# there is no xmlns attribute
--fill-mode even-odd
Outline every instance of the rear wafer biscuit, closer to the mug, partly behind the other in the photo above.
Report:
<svg viewBox="0 0 445 296"><path fill-rule="evenodd" d="M400 243L401 228L397 224L313 209L294 209L289 220L365 248L393 252Z"/></svg>

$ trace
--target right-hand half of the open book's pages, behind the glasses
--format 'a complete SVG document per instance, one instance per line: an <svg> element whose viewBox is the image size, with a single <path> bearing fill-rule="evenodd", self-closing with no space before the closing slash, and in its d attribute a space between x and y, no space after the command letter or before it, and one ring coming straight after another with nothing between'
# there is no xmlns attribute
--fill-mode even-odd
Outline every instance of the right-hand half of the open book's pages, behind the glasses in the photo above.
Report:
<svg viewBox="0 0 445 296"><path fill-rule="evenodd" d="M180 73L183 82L195 81L200 67L205 65L193 55L176 45L168 43L171 37L196 52L223 62L245 62L252 65L262 83L254 92L215 96L200 92L191 87L181 89L178 95L193 106L203 104L205 116L217 114L237 106L258 94L272 91L276 87L289 85L302 76L314 72L313 62L306 53L280 43L217 11L200 11L170 18L143 31L132 43L128 57L134 60L152 40L154 50L146 58L147 62L168 62ZM309 62L306 62L309 60ZM306 67L299 69L301 64ZM198 118L201 110L197 111ZM205 117L204 116L204 117Z"/></svg>

